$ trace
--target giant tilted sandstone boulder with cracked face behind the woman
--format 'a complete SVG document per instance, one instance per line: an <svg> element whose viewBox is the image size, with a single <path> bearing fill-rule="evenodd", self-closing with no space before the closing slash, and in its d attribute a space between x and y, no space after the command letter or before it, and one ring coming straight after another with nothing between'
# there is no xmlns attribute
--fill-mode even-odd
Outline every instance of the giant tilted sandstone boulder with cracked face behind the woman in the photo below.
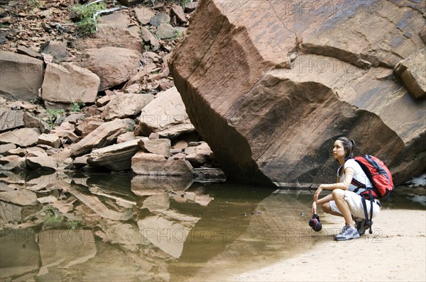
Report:
<svg viewBox="0 0 426 282"><path fill-rule="evenodd" d="M425 47L423 13L425 1L202 1L170 72L231 178L335 181L346 135L400 184L426 164L425 99L393 73Z"/></svg>

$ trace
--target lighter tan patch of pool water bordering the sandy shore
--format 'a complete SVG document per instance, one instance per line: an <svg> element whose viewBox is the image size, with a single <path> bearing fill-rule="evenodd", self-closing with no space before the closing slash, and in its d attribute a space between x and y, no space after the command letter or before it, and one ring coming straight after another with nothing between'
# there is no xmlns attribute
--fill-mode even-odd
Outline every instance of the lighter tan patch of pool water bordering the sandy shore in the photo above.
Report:
<svg viewBox="0 0 426 282"><path fill-rule="evenodd" d="M241 223L235 222L234 228L228 229L227 237L226 234L222 235L221 239L226 241L224 249L199 263L194 271L180 271L176 269L182 267L178 264L170 266L170 277L172 280L221 281L232 273L266 266L309 249L314 237L312 230L307 227L307 218L300 215L300 211L306 208L306 205L291 194L271 194L256 206L256 213L250 213L241 219L246 221L245 228ZM208 247L206 241L198 242L195 246L185 246L185 249L198 248L205 252ZM185 249L180 263L182 259L194 259L184 257ZM226 272L217 271L221 267L226 268ZM182 276L182 273L187 274Z"/></svg>

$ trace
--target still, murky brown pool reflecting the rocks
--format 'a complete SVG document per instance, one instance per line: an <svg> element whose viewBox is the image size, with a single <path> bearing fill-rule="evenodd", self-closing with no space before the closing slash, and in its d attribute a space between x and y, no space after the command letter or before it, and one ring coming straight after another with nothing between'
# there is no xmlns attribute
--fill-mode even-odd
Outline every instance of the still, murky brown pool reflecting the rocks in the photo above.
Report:
<svg viewBox="0 0 426 282"><path fill-rule="evenodd" d="M318 239L307 225L310 191L119 174L0 176L1 281L211 281ZM383 208L425 209L402 194Z"/></svg>

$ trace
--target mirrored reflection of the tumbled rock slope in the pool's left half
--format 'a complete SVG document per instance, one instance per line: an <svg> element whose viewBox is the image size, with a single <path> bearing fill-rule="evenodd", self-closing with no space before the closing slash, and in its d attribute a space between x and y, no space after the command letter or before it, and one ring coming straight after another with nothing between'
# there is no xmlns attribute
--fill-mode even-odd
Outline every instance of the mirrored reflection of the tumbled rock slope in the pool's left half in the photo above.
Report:
<svg viewBox="0 0 426 282"><path fill-rule="evenodd" d="M168 281L168 261L179 259L200 220L176 205L202 207L212 198L201 188L186 192L192 179L133 178L1 174L1 279ZM8 232L32 239L20 252Z"/></svg>

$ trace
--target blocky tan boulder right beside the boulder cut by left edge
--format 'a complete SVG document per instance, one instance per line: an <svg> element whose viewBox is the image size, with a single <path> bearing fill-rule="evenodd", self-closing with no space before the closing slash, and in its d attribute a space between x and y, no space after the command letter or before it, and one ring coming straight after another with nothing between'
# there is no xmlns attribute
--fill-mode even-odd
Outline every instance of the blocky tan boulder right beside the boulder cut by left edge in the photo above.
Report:
<svg viewBox="0 0 426 282"><path fill-rule="evenodd" d="M100 83L89 69L68 62L51 63L45 70L42 98L56 103L94 103Z"/></svg>

